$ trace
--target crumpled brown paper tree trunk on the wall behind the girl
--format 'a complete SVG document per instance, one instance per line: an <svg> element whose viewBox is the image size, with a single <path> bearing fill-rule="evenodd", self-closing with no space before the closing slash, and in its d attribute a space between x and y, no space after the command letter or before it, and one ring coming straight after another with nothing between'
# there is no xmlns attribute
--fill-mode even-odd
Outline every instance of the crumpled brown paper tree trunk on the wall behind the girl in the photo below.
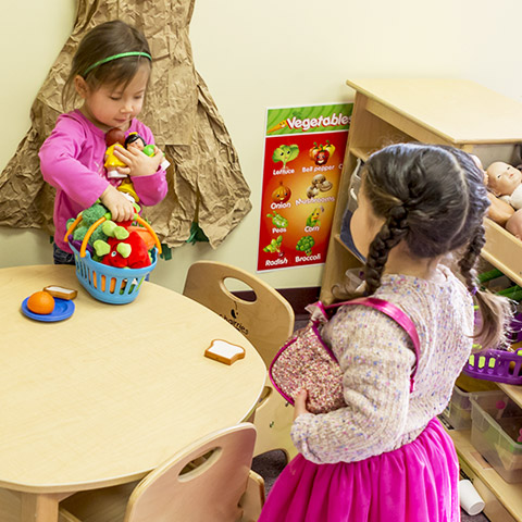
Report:
<svg viewBox="0 0 522 522"><path fill-rule="evenodd" d="M216 248L250 211L250 189L209 89L192 62L188 25L195 0L78 0L73 33L32 110L32 127L0 174L0 225L53 233L54 189L44 182L38 150L64 112L61 95L72 57L94 26L120 18L140 29L154 58L139 119L171 162L169 194L145 209L160 240L184 245L194 220Z"/></svg>

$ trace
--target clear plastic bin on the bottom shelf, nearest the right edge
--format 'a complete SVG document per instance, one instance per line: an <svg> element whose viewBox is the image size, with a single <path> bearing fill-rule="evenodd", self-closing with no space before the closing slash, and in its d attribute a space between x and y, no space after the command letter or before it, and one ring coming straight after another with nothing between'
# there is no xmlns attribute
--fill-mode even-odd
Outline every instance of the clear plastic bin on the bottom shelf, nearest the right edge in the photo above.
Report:
<svg viewBox="0 0 522 522"><path fill-rule="evenodd" d="M471 444L506 482L522 482L522 409L504 391L471 397Z"/></svg>

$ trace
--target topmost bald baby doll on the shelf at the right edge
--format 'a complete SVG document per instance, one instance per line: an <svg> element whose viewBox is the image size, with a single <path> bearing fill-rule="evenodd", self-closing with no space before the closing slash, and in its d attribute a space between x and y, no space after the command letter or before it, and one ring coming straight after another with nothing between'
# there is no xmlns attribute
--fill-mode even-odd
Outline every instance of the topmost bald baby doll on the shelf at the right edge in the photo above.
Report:
<svg viewBox="0 0 522 522"><path fill-rule="evenodd" d="M495 198L489 198L492 210L498 214L489 217L522 239L522 172L509 163L496 161L487 167L485 179Z"/></svg>

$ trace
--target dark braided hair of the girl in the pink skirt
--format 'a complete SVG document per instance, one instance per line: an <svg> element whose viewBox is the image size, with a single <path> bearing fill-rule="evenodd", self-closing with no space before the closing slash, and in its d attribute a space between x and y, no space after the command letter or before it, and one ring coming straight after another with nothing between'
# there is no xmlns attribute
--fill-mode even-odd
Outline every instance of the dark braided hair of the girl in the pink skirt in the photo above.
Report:
<svg viewBox="0 0 522 522"><path fill-rule="evenodd" d="M476 278L489 199L473 159L452 147L393 145L370 157L361 190L375 215L386 220L370 245L364 266L368 294L381 286L389 250L400 241L420 259L459 251L460 273L482 314L475 338L484 347L504 343L510 303L482 291Z"/></svg>

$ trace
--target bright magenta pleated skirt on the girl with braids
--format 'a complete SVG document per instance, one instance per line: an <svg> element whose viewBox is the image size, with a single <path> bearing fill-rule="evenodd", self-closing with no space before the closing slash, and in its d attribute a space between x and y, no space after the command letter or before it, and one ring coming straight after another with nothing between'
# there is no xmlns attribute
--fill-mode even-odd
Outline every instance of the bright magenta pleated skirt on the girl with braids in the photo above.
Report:
<svg viewBox="0 0 522 522"><path fill-rule="evenodd" d="M298 455L258 522L458 522L459 461L433 419L410 444L359 462L315 464Z"/></svg>

